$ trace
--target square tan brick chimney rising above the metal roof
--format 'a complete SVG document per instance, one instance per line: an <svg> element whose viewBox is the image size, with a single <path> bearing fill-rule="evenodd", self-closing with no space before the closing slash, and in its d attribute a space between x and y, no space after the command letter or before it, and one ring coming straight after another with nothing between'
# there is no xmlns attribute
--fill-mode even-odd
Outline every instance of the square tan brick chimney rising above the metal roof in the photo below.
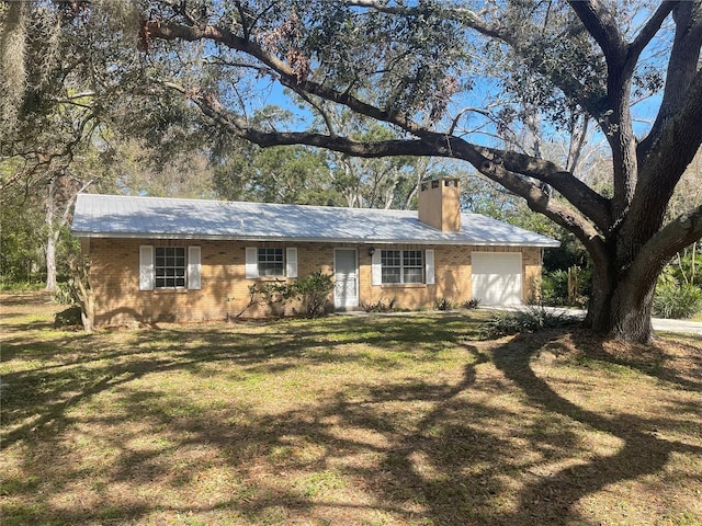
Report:
<svg viewBox="0 0 702 526"><path fill-rule="evenodd" d="M441 178L420 184L419 220L442 232L461 230L461 188L457 178Z"/></svg>

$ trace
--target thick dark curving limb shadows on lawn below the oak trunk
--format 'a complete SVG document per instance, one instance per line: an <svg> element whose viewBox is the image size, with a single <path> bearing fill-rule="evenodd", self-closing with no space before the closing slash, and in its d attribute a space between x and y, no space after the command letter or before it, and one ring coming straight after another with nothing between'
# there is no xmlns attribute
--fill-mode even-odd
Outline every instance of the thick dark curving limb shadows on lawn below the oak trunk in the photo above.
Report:
<svg viewBox="0 0 702 526"><path fill-rule="evenodd" d="M542 480L525 487L520 495L518 516L533 517L533 524L564 524L582 519L575 512L575 504L588 494L604 489L607 485L625 480L634 480L646 474L660 473L670 456L675 453L702 455L702 447L681 442L672 442L655 436L657 428L665 428L679 423L675 414L682 408L671 409L668 420L643 419L635 416L608 418L588 411L558 395L547 381L537 377L530 362L534 353L545 343L548 332L536 334L528 342L503 345L494 353L495 365L514 381L528 397L529 403L535 408L558 413L589 428L612 435L623 442L623 446L614 455L599 456L586 464L567 467ZM653 353L659 359L642 359L631 356L629 359L612 355L603 345L604 340L592 339L589 333L575 330L575 343L584 355L626 365L641 373L664 381L677 384L683 388L698 388L699 385L678 377L671 368L663 366L665 352L655 347L641 347L638 351ZM699 350L695 350L699 352ZM625 409L625 408L624 408ZM684 411L682 411L684 413ZM699 414L699 408L698 408ZM699 426L699 420L695 422ZM700 484L702 481L698 480ZM553 499L544 500L544 495Z"/></svg>

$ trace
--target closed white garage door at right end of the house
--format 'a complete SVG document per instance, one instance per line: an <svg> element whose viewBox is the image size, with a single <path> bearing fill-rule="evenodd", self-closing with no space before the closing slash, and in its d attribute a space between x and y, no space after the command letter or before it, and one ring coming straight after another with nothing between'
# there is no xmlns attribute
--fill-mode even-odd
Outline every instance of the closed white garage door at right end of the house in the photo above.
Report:
<svg viewBox="0 0 702 526"><path fill-rule="evenodd" d="M473 298L480 305L522 302L521 252L473 252Z"/></svg>

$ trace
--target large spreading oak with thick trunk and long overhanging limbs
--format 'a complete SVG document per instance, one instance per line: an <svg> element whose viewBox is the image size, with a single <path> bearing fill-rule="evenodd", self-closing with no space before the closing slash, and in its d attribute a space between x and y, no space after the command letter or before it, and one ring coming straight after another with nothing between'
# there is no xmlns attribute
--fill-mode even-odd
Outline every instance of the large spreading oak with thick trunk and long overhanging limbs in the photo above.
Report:
<svg viewBox="0 0 702 526"><path fill-rule="evenodd" d="M656 278L702 236L702 207L667 218L702 142L702 0L54 5L73 25L97 12L110 20L83 32L101 57L116 41L139 49L113 60L105 85L179 95L218 133L261 147L471 164L584 243L595 265L588 322L600 332L649 341ZM157 128L163 112L140 101ZM271 103L297 121L262 113ZM355 119L353 132L339 115ZM604 185L582 178L592 130L609 150L598 167ZM570 147L553 155L542 138L563 134Z"/></svg>

